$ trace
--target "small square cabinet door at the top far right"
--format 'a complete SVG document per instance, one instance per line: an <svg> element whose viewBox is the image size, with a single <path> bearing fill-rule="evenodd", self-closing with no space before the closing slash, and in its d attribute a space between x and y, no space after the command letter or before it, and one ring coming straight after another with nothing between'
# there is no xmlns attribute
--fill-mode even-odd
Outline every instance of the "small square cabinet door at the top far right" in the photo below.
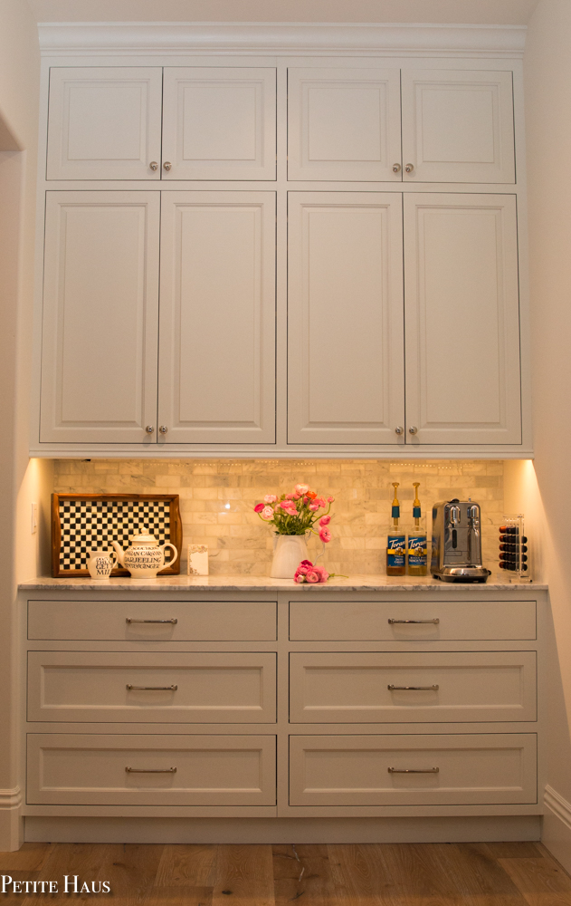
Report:
<svg viewBox="0 0 571 906"><path fill-rule="evenodd" d="M511 72L404 69L402 85L405 182L515 182Z"/></svg>

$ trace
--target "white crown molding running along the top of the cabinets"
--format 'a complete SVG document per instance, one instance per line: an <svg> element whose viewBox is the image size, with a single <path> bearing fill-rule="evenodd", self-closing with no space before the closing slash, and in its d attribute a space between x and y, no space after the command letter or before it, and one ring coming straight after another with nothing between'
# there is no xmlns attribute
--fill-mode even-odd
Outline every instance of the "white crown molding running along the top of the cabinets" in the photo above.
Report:
<svg viewBox="0 0 571 906"><path fill-rule="evenodd" d="M383 56L522 56L525 25L46 22L43 56L181 53L381 53Z"/></svg>

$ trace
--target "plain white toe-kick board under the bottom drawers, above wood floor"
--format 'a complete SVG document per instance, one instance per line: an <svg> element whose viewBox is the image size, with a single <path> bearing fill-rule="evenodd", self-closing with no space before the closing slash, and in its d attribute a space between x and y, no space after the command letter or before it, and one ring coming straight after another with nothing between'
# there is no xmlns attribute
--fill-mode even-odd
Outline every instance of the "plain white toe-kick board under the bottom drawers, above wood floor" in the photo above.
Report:
<svg viewBox="0 0 571 906"><path fill-rule="evenodd" d="M539 840L541 815L459 818L67 818L30 815L33 843L485 843Z"/></svg>

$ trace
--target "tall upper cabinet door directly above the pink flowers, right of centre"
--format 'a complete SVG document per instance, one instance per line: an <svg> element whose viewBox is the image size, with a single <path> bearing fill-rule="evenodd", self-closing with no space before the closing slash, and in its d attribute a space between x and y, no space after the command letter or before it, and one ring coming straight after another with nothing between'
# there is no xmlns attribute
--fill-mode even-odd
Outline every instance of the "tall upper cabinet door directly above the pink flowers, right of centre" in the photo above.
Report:
<svg viewBox="0 0 571 906"><path fill-rule="evenodd" d="M402 197L290 192L289 204L288 440L398 443Z"/></svg>

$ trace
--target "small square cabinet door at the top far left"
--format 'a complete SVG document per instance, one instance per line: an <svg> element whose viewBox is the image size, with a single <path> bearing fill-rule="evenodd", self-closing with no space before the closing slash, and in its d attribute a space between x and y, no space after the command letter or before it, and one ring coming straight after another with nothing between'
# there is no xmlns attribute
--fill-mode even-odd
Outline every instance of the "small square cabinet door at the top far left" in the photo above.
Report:
<svg viewBox="0 0 571 906"><path fill-rule="evenodd" d="M47 178L160 179L162 84L158 66L52 68Z"/></svg>

